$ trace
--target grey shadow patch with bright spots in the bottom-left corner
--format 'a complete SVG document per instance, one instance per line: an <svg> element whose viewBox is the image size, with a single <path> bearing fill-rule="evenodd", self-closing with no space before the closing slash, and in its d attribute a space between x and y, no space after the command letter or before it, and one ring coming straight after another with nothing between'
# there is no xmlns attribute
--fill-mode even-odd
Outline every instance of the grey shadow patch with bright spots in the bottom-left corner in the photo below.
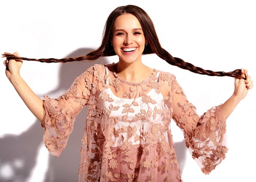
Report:
<svg viewBox="0 0 256 182"><path fill-rule="evenodd" d="M0 138L0 181L25 182L36 164L38 149L42 143L39 121L20 135ZM33 140L31 140L33 138Z"/></svg>

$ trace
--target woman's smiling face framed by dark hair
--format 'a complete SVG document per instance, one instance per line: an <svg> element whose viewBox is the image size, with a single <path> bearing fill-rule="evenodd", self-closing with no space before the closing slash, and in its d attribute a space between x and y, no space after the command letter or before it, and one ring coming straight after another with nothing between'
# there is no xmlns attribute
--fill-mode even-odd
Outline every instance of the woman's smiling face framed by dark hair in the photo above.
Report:
<svg viewBox="0 0 256 182"><path fill-rule="evenodd" d="M133 63L141 61L145 37L139 20L130 13L116 18L113 27L112 44L119 61Z"/></svg>

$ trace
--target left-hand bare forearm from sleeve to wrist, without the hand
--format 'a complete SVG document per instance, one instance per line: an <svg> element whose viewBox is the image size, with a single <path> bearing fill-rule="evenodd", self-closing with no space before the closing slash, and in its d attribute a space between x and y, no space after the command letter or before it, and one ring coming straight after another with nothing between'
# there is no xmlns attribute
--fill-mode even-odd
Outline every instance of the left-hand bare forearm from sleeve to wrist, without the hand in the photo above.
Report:
<svg viewBox="0 0 256 182"><path fill-rule="evenodd" d="M29 88L20 75L12 76L9 80L29 110L44 124L45 110L43 108L43 100Z"/></svg>

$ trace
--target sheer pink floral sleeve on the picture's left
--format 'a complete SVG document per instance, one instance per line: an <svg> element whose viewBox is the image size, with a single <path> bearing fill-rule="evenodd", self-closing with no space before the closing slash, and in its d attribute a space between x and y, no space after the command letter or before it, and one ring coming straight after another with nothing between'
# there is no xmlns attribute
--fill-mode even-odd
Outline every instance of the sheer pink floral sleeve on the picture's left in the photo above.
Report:
<svg viewBox="0 0 256 182"><path fill-rule="evenodd" d="M76 77L72 86L57 99L44 96L45 126L43 142L54 156L60 156L67 145L79 112L88 103L91 92L96 92L93 83L94 68L90 67Z"/></svg>

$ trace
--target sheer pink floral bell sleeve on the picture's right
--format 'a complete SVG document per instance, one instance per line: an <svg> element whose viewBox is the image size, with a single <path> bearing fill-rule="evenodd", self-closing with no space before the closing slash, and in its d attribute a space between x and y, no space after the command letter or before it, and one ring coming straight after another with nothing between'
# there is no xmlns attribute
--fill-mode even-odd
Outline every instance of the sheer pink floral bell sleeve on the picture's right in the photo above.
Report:
<svg viewBox="0 0 256 182"><path fill-rule="evenodd" d="M228 150L224 140L226 121L222 105L212 107L199 117L195 106L186 99L175 77L171 84L170 95L173 119L184 132L186 147L189 148L202 172L209 174L225 159Z"/></svg>

